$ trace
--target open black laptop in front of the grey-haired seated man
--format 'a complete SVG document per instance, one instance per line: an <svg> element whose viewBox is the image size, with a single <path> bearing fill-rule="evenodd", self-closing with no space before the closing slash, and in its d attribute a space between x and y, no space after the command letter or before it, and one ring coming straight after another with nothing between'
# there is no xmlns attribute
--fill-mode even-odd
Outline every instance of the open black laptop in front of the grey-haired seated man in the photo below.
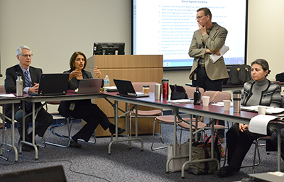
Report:
<svg viewBox="0 0 284 182"><path fill-rule="evenodd" d="M68 89L69 74L41 74L38 93L28 93L31 96L65 95Z"/></svg>

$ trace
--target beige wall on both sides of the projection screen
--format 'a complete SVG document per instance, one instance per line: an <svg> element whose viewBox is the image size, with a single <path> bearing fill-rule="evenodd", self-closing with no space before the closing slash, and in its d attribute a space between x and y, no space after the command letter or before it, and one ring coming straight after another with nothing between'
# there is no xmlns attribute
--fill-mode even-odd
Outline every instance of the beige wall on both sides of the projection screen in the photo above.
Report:
<svg viewBox="0 0 284 182"><path fill-rule="evenodd" d="M248 64L257 58L271 66L268 79L284 72L281 22L283 0L249 0ZM214 21L214 19L213 19ZM234 23L234 22L232 22ZM16 48L28 45L33 50L35 67L45 73L69 69L75 51L92 56L93 42L126 42L131 50L131 0L1 0L0 1L0 84L5 70L14 64ZM164 72L170 84L191 83L189 71Z"/></svg>

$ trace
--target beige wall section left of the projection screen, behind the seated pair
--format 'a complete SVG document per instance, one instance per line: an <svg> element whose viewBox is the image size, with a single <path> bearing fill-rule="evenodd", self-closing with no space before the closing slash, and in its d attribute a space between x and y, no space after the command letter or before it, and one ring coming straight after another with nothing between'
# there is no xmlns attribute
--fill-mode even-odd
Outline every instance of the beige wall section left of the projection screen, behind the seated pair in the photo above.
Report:
<svg viewBox="0 0 284 182"><path fill-rule="evenodd" d="M94 42L126 42L130 54L130 14L130 0L1 0L1 74L18 64L20 45L31 47L31 65L45 73L70 69L75 51L91 57Z"/></svg>

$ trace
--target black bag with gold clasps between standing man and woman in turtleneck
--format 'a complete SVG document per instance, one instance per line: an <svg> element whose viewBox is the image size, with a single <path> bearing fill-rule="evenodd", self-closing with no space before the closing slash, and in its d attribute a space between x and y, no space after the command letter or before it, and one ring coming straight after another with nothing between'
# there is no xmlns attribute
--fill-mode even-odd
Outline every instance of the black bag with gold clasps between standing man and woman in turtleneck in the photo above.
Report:
<svg viewBox="0 0 284 182"><path fill-rule="evenodd" d="M226 84L241 85L248 81L253 81L253 78L251 77L251 66L242 64L231 67L229 79Z"/></svg>

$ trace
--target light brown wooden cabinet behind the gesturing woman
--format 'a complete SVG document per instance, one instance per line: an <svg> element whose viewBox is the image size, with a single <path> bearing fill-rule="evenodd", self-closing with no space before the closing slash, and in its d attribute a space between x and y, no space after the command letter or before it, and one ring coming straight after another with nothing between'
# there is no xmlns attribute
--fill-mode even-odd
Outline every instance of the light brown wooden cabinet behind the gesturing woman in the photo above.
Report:
<svg viewBox="0 0 284 182"><path fill-rule="evenodd" d="M87 59L86 70L93 72L97 66L102 77L109 76L109 85L114 86L113 79L126 79L134 81L155 81L160 83L163 79L163 55L94 55ZM111 105L99 98L94 101L99 108L109 117L111 123L114 123L114 109ZM125 110L125 103L119 103L119 108ZM143 106L139 106L142 109ZM145 107L144 107L145 108ZM146 108L149 109L149 108ZM121 115L121 111L119 111ZM150 134L153 132L153 118L139 118L138 134ZM135 127L132 121L132 131ZM125 127L124 118L119 119L119 127ZM157 128L158 132L159 128ZM96 135L107 136L109 131L104 131L102 127L97 127Z"/></svg>

